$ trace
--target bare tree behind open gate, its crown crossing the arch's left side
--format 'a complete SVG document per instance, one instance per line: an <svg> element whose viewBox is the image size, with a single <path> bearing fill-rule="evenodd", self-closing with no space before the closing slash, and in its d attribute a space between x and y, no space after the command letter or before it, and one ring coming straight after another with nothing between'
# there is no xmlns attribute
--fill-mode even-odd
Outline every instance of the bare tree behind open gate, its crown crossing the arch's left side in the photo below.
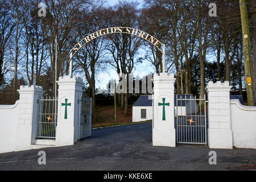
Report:
<svg viewBox="0 0 256 182"><path fill-rule="evenodd" d="M79 24L79 38L83 39L85 36L92 32L96 32L102 28L102 18L105 16L102 10L101 4L96 4L92 8L89 14L85 14ZM82 48L77 56L76 63L82 68L85 74L86 80L89 83L90 89L92 90L92 117L95 121L95 110L96 110L96 73L99 68L98 61L102 59L102 51L104 50L104 36L91 40L88 44Z"/></svg>

